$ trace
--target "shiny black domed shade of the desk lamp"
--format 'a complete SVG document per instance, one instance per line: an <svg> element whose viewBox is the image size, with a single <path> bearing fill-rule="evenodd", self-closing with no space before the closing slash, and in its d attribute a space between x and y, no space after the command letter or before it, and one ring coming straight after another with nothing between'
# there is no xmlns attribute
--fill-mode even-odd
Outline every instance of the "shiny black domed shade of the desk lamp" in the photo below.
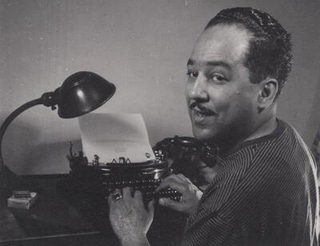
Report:
<svg viewBox="0 0 320 246"><path fill-rule="evenodd" d="M77 72L55 91L58 115L74 118L89 113L108 101L115 91L115 85L101 76L92 72Z"/></svg>

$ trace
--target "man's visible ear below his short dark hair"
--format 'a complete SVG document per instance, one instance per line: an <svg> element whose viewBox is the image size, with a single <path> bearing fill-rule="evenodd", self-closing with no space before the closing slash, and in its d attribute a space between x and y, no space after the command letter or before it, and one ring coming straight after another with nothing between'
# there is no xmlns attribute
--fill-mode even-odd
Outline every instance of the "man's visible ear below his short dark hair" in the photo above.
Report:
<svg viewBox="0 0 320 246"><path fill-rule="evenodd" d="M276 79L267 78L261 81L259 85L258 107L263 110L275 101L279 90L279 84Z"/></svg>

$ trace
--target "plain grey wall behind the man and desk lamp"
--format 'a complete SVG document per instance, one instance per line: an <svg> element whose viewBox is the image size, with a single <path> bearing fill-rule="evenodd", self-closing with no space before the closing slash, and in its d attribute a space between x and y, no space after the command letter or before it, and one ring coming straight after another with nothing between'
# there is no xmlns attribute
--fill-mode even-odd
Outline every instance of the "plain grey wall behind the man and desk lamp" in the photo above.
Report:
<svg viewBox="0 0 320 246"><path fill-rule="evenodd" d="M205 24L233 6L263 9L292 33L294 67L278 112L310 145L320 119L318 0L0 0L0 122L86 70L117 86L99 112L141 113L152 145L191 136L186 62ZM76 119L37 106L9 127L4 160L17 173L66 173L69 142L78 151L79 139Z"/></svg>

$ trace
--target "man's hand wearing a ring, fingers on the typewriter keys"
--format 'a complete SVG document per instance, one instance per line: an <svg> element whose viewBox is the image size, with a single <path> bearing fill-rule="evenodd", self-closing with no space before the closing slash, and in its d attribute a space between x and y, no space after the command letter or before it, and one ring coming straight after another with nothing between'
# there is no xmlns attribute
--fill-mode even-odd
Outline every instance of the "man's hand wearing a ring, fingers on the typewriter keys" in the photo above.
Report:
<svg viewBox="0 0 320 246"><path fill-rule="evenodd" d="M153 220L154 202L151 201L146 209L140 191L132 192L126 187L121 196L116 190L108 197L111 226L118 236L121 245L149 245L147 231Z"/></svg>

